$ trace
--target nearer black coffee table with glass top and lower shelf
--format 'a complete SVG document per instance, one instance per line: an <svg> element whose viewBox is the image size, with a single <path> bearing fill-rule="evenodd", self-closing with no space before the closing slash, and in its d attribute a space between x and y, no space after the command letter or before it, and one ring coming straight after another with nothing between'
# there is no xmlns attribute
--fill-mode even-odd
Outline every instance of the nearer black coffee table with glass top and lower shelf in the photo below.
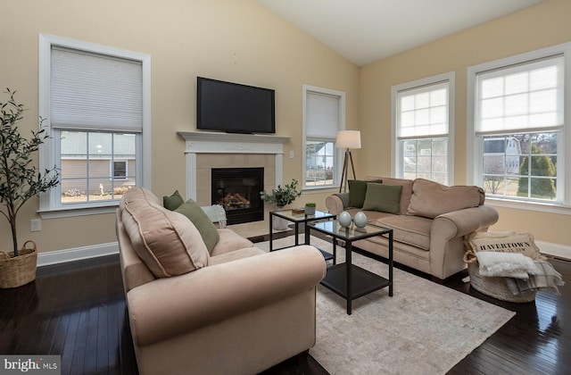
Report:
<svg viewBox="0 0 571 375"><path fill-rule="evenodd" d="M333 237L334 263L327 267L327 275L321 284L347 300L347 314L352 313L352 300L368 295L383 287L389 287L389 296L393 296L393 229L377 227L367 224L365 228L343 228L338 221L321 221L308 223L306 237L310 230ZM360 239L388 236L389 239L389 275L385 279L371 271L364 270L352 264L352 243ZM345 262L337 264L336 243L342 240L345 243Z"/></svg>

